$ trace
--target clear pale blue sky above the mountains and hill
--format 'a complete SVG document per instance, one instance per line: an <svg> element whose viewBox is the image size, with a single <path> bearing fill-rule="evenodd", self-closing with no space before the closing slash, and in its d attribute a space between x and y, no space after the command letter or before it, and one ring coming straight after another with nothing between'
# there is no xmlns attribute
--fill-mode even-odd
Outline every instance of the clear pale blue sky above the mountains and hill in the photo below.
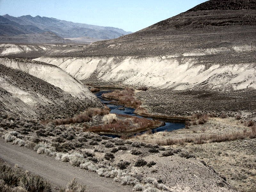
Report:
<svg viewBox="0 0 256 192"><path fill-rule="evenodd" d="M0 0L0 15L36 15L138 31L206 0Z"/></svg>

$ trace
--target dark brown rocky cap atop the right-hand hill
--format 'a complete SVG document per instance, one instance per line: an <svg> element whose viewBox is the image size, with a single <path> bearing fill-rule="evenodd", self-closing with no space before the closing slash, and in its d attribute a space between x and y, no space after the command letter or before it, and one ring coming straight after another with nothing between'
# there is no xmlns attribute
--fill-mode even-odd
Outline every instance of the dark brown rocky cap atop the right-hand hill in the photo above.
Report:
<svg viewBox="0 0 256 192"><path fill-rule="evenodd" d="M188 12L204 10L256 10L256 0L210 0L189 9Z"/></svg>

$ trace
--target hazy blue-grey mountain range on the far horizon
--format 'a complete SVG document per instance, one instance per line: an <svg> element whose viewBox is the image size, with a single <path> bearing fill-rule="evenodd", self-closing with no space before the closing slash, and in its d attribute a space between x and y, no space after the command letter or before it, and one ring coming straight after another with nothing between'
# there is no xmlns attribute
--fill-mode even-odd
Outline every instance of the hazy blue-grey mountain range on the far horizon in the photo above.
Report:
<svg viewBox="0 0 256 192"><path fill-rule="evenodd" d="M132 32L114 27L102 27L58 20L49 17L32 17L25 15L13 17L8 14L0 16L0 36L16 36L24 34L52 32L62 38L92 37L95 39L113 39Z"/></svg>

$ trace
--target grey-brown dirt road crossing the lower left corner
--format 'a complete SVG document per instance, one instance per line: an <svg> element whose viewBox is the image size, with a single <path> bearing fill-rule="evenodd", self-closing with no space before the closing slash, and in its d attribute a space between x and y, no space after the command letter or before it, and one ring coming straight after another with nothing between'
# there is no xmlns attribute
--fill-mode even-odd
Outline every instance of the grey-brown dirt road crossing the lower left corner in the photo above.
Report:
<svg viewBox="0 0 256 192"><path fill-rule="evenodd" d="M99 177L95 172L81 170L79 167L73 167L52 157L39 155L28 148L6 143L3 139L0 139L0 158L42 176L51 182L56 190L59 187L66 187L70 179L76 178L87 186L88 191L92 192L132 191L131 187L122 186L120 183L114 182L113 179Z"/></svg>

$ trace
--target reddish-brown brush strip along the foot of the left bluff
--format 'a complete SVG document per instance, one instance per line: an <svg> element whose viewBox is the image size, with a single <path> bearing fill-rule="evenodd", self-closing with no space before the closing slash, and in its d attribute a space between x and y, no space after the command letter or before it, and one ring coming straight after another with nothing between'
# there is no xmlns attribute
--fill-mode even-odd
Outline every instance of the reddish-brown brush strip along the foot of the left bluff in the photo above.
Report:
<svg viewBox="0 0 256 192"><path fill-rule="evenodd" d="M108 108L90 108L87 109L85 112L75 115L72 118L64 118L64 119L55 119L55 120L43 120L41 124L48 124L53 122L56 125L65 125L65 124L74 124L74 123L84 123L89 122L91 117L99 115L104 116L109 114Z"/></svg>

